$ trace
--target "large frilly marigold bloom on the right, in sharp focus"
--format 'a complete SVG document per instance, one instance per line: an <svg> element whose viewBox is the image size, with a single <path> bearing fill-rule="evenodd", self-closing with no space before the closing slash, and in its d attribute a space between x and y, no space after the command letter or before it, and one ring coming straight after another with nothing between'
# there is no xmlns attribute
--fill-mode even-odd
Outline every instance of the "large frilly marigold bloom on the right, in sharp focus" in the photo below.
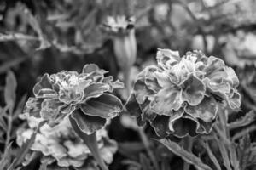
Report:
<svg viewBox="0 0 256 170"><path fill-rule="evenodd" d="M139 124L149 122L160 137L210 133L218 102L240 107L239 80L235 71L216 57L200 51L159 49L158 65L146 67L134 84L126 109Z"/></svg>

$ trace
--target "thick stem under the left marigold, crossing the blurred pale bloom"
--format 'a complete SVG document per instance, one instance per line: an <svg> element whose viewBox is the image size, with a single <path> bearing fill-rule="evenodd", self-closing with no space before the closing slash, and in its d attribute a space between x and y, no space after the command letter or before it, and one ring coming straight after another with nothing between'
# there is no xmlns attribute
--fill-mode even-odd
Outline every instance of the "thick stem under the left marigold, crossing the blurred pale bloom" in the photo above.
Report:
<svg viewBox="0 0 256 170"><path fill-rule="evenodd" d="M73 120L73 118L71 116L69 116L69 121L71 122L73 130L79 135L79 137L81 139L83 139L84 144L86 144L88 146L92 156L94 156L94 158L96 159L96 161L98 162L98 164L102 168L102 170L108 170L108 167L102 160L102 156L101 156L99 148L98 148L98 144L97 144L97 140L96 140L96 133L92 133L92 134L84 133L79 128L79 126L77 125L75 120Z"/></svg>

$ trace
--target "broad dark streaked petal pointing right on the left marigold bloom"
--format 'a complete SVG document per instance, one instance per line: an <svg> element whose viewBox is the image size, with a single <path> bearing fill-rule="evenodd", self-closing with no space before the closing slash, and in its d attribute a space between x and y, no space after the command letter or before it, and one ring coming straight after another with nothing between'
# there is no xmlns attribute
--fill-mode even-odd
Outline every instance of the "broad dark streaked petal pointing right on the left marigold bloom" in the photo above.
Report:
<svg viewBox="0 0 256 170"><path fill-rule="evenodd" d="M98 98L92 98L82 104L81 110L86 115L113 118L122 111L123 105L120 99L112 94L102 94Z"/></svg>

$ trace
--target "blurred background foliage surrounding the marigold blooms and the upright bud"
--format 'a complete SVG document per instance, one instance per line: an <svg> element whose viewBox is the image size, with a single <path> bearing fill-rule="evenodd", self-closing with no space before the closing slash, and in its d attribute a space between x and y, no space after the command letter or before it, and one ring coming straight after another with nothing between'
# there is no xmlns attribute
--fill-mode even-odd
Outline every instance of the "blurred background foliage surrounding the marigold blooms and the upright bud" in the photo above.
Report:
<svg viewBox="0 0 256 170"><path fill-rule="evenodd" d="M151 127L143 131L124 112L108 126L109 137L119 144L109 168L204 169L207 164L213 169L237 169L241 164L241 169L254 169L255 8L255 0L0 1L0 169L15 168L24 158L15 144L17 129L25 126L18 116L38 77L45 72L80 71L85 64L95 63L122 80L113 42L102 31L107 15L136 18L137 60L131 79L146 65L155 64L157 48L178 50L181 55L200 49L235 69L242 98L241 111L230 113L229 125L218 122L214 129L218 136L195 140L190 152L201 160L180 152L181 146L173 143L180 139L156 142ZM125 103L124 92L116 94ZM183 160L198 167L183 167Z"/></svg>

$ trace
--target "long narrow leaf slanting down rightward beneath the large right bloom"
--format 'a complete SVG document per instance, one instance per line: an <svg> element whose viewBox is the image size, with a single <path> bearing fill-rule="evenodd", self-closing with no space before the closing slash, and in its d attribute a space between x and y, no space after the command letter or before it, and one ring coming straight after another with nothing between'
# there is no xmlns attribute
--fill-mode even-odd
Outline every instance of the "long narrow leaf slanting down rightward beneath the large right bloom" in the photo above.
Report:
<svg viewBox="0 0 256 170"><path fill-rule="evenodd" d="M181 156L184 161L194 165L197 168L204 169L204 170L212 170L211 167L204 164L201 159L186 150L183 150L178 144L172 142L168 139L160 139L158 140L161 144L164 144L169 150L171 150L177 156Z"/></svg>

